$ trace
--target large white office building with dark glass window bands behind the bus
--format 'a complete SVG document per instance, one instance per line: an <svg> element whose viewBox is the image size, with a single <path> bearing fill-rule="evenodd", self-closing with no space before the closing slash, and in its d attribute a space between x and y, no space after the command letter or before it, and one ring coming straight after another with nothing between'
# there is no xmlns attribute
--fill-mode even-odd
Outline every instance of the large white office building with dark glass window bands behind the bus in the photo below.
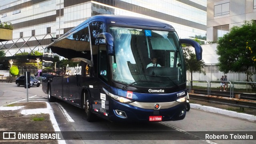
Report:
<svg viewBox="0 0 256 144"><path fill-rule="evenodd" d="M0 0L0 21L11 22L13 40L0 42L6 56L43 51L90 16L117 14L171 24L180 38L206 41L207 0Z"/></svg>

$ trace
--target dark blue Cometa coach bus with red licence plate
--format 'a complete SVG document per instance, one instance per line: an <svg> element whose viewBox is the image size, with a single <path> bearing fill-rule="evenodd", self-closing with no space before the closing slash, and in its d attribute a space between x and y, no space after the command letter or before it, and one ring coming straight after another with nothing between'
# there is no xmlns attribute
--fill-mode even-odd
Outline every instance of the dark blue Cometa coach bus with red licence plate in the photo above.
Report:
<svg viewBox="0 0 256 144"><path fill-rule="evenodd" d="M181 43L167 23L97 15L44 49L42 91L48 101L83 108L87 121L170 121L186 115L186 67ZM151 65L150 65L151 63Z"/></svg>

